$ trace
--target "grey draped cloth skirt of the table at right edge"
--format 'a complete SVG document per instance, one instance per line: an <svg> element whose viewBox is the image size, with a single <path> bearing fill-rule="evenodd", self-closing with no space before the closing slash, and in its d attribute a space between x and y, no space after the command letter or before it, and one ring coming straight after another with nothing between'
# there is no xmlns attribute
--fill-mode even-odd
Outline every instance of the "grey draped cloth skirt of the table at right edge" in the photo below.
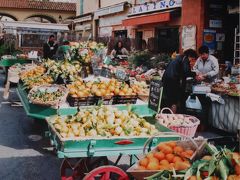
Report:
<svg viewBox="0 0 240 180"><path fill-rule="evenodd" d="M209 121L210 124L218 129L230 133L237 133L240 129L240 100L239 97L222 95L225 104L212 102Z"/></svg>

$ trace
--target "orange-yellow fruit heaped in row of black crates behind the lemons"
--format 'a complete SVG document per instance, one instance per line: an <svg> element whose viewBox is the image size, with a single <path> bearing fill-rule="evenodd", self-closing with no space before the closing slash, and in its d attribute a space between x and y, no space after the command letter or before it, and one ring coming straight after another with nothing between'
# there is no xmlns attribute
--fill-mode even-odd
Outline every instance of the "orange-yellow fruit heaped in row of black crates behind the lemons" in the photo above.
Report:
<svg viewBox="0 0 240 180"><path fill-rule="evenodd" d="M75 81L68 85L69 94L72 97L99 96L109 97L114 95L136 95L128 84L111 79L110 81L83 82Z"/></svg>

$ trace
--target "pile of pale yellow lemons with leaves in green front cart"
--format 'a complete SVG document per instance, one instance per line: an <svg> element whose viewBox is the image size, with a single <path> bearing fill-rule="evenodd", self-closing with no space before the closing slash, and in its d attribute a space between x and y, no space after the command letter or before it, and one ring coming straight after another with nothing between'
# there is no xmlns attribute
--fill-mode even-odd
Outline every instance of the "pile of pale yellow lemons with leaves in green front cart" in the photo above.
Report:
<svg viewBox="0 0 240 180"><path fill-rule="evenodd" d="M54 116L50 123L63 138L152 136L158 132L133 112L107 106L80 109L73 116Z"/></svg>

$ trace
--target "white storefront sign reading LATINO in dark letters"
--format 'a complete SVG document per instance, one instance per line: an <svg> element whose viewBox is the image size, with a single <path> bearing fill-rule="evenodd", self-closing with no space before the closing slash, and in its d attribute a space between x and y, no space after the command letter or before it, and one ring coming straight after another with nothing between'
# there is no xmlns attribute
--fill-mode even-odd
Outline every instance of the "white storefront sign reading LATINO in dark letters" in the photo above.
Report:
<svg viewBox="0 0 240 180"><path fill-rule="evenodd" d="M130 15L138 15L177 7L182 7L182 0L161 0L158 2L144 3L134 6Z"/></svg>

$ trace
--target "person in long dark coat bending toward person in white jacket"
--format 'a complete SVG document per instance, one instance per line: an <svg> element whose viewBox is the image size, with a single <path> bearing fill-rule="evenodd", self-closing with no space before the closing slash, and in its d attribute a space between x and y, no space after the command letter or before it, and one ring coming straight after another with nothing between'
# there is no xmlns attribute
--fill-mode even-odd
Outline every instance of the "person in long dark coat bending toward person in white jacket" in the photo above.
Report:
<svg viewBox="0 0 240 180"><path fill-rule="evenodd" d="M171 108L174 113L183 111L186 79L195 76L195 73L191 72L190 61L196 58L196 51L188 49L182 55L177 55L167 65L163 74L164 106Z"/></svg>

